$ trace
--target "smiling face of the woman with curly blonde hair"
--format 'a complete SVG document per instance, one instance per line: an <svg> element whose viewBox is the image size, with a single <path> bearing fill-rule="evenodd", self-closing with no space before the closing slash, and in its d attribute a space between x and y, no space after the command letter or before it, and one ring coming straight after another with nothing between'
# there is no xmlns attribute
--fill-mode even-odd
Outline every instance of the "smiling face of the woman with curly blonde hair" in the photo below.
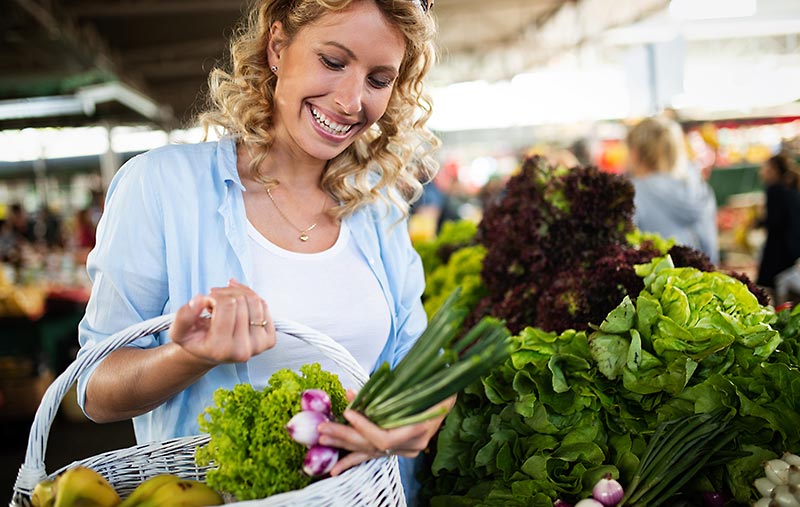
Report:
<svg viewBox="0 0 800 507"><path fill-rule="evenodd" d="M404 54L403 35L369 0L326 14L291 41L275 23L273 148L320 161L339 155L386 111Z"/></svg>

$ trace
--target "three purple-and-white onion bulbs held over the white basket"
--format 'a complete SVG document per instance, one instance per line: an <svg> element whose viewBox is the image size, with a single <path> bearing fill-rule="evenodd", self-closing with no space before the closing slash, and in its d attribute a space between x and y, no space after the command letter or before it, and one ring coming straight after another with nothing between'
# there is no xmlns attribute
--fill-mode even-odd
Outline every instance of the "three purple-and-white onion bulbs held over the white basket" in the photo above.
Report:
<svg viewBox="0 0 800 507"><path fill-rule="evenodd" d="M331 399L321 389L307 389L300 396L300 412L286 425L295 442L308 447L303 472L311 477L325 475L339 461L339 449L319 445L317 426L331 419Z"/></svg>

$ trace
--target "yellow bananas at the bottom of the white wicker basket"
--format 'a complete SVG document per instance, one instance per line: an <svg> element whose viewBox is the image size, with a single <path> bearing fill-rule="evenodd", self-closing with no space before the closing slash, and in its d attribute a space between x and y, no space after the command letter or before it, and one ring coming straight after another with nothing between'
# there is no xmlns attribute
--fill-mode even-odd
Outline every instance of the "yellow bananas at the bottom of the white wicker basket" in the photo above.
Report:
<svg viewBox="0 0 800 507"><path fill-rule="evenodd" d="M33 507L202 507L222 497L202 482L162 474L140 484L125 500L91 468L78 466L36 485Z"/></svg>

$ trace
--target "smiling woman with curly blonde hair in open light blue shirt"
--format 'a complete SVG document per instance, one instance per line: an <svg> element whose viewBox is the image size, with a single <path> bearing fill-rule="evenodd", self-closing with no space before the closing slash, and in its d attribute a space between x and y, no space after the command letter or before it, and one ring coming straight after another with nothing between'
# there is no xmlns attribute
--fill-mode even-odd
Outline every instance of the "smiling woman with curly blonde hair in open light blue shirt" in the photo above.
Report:
<svg viewBox="0 0 800 507"><path fill-rule="evenodd" d="M219 387L263 386L314 361L336 371L276 333L273 314L326 333L368 371L407 352L425 314L404 218L434 172L424 147L437 144L424 129L428 7L257 2L231 46L232 71L210 78L214 107L202 119L225 137L136 157L109 188L81 345L177 314L168 333L80 379L89 417L133 417L140 442L196 434ZM441 424L384 431L345 415L348 426L320 426L321 443L352 451L333 475L386 453L416 456Z"/></svg>

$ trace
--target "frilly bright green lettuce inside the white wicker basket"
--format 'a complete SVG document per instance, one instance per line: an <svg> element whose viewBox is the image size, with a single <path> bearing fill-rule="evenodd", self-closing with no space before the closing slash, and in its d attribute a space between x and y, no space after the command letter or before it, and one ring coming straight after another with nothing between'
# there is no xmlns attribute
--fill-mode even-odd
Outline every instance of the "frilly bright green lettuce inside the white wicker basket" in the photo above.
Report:
<svg viewBox="0 0 800 507"><path fill-rule="evenodd" d="M347 406L345 391L337 375L319 363L275 372L267 387L250 384L218 389L214 406L200 414L200 430L210 434L195 459L201 466L213 465L206 483L237 500L265 498L300 489L311 482L303 473L306 449L292 440L286 424L300 412L301 393L322 389L331 398L331 412L339 417Z"/></svg>

